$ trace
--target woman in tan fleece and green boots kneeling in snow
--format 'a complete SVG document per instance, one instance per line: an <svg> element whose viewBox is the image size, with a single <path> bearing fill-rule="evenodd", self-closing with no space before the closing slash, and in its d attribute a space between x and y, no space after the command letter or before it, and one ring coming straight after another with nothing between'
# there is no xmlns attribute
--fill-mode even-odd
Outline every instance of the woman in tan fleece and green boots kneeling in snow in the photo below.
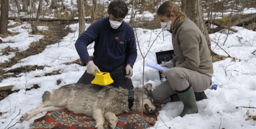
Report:
<svg viewBox="0 0 256 129"><path fill-rule="evenodd" d="M167 80L152 92L155 103L165 104L181 100L184 109L180 114L198 113L196 100L207 98L204 90L212 83L213 64L207 41L197 25L180 12L177 4L165 1L157 10L159 19L172 22L172 45L175 56L161 66Z"/></svg>

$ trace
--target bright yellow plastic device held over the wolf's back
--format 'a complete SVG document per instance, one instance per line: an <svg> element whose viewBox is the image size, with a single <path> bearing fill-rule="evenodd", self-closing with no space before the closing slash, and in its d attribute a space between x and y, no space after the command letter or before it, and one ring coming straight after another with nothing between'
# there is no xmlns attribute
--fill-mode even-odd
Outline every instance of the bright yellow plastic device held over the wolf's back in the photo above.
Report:
<svg viewBox="0 0 256 129"><path fill-rule="evenodd" d="M114 80L111 78L109 73L98 73L97 71L95 71L95 78L93 79L93 81L91 81L91 84L106 86L112 84L113 82Z"/></svg>

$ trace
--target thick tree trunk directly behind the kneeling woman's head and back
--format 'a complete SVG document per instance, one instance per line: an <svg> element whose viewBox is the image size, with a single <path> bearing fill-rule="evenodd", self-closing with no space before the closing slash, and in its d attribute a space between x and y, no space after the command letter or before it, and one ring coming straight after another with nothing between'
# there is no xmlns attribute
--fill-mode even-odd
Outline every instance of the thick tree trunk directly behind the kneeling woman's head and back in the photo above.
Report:
<svg viewBox="0 0 256 129"><path fill-rule="evenodd" d="M211 40L203 17L202 0L181 0L181 8L187 17L195 22L199 29L202 31L207 41L208 48L210 52L212 52Z"/></svg>

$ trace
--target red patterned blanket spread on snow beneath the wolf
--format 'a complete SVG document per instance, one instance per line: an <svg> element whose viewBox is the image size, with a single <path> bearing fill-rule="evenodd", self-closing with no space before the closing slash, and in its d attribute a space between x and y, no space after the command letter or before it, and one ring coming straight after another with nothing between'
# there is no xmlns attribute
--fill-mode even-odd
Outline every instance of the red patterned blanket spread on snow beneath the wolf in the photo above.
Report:
<svg viewBox="0 0 256 129"><path fill-rule="evenodd" d="M158 110L161 105L156 105ZM115 129L141 129L141 112L130 112L116 115L119 121ZM143 113L143 129L153 126L157 121L156 115L147 115ZM95 119L83 114L75 114L67 109L54 112L47 112L45 116L35 119L31 129L94 129ZM105 121L104 128L108 128L108 122Z"/></svg>

